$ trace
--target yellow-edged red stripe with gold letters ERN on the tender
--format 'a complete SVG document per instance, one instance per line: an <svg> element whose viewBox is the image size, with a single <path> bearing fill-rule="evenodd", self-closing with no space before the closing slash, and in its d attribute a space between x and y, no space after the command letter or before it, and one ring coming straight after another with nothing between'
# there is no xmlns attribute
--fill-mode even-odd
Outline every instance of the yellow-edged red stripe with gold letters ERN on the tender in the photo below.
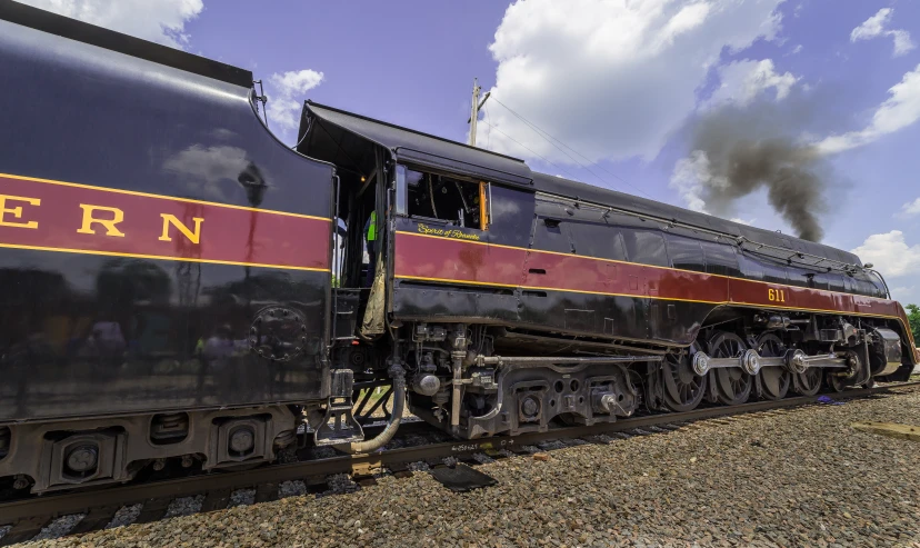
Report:
<svg viewBox="0 0 920 548"><path fill-rule="evenodd" d="M0 176L0 247L329 270L330 221Z"/></svg>

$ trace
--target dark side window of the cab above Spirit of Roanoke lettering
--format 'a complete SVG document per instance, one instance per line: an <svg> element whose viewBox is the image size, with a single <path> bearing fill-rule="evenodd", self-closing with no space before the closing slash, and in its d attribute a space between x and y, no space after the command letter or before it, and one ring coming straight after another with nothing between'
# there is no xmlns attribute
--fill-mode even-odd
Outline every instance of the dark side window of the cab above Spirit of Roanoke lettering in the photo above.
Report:
<svg viewBox="0 0 920 548"><path fill-rule="evenodd" d="M410 217L438 219L450 226L480 227L478 182L407 169L406 186Z"/></svg>

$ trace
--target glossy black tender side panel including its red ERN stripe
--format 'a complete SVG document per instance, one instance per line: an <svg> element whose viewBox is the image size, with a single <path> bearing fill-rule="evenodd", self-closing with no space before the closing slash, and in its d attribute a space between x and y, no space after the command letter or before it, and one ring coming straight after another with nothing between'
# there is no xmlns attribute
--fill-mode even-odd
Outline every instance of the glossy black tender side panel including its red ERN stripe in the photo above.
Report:
<svg viewBox="0 0 920 548"><path fill-rule="evenodd" d="M0 422L328 396L330 166L231 83L7 21L0 72ZM288 361L250 350L267 307Z"/></svg>

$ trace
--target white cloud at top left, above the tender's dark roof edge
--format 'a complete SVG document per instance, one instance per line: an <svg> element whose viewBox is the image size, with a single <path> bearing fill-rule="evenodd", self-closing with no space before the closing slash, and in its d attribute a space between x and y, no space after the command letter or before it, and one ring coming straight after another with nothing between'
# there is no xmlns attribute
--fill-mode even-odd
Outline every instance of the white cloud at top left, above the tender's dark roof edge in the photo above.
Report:
<svg viewBox="0 0 920 548"><path fill-rule="evenodd" d="M184 49L186 23L204 9L202 0L18 0L144 40Z"/></svg>

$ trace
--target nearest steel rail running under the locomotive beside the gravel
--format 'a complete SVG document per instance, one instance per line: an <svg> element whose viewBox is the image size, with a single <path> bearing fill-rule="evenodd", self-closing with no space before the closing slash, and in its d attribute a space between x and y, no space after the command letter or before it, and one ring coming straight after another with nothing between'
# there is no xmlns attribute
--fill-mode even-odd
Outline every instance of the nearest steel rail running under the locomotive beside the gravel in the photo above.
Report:
<svg viewBox="0 0 920 548"><path fill-rule="evenodd" d="M569 427L546 432L526 432L518 436L493 436L476 440L451 440L433 442L424 446L390 449L373 454L344 455L340 457L304 460L284 465L269 465L247 471L208 474L180 479L151 481L140 485L127 485L108 489L94 489L81 492L61 495L43 495L28 499L0 504L0 525L13 524L17 520L42 517L60 517L72 514L88 512L92 508L129 506L151 499L180 498L201 495L207 491L221 489L244 489L253 486L303 480L310 477L330 476L333 474L350 474L357 469L372 469L388 465L426 461L446 457L457 457L476 452L509 449L520 446L532 446L540 441L552 439L572 439L603 434L648 428L658 425L689 422L714 417L726 417L760 412L773 409L801 407L814 403L822 397L837 400L864 398L878 393L888 393L900 388L920 386L920 381L900 382L876 388L847 390L843 392L823 393L807 397L783 398L781 400L764 400L742 403L731 407L713 406L687 412L663 412L642 417L632 417L592 426ZM443 434L441 430L432 430Z"/></svg>

